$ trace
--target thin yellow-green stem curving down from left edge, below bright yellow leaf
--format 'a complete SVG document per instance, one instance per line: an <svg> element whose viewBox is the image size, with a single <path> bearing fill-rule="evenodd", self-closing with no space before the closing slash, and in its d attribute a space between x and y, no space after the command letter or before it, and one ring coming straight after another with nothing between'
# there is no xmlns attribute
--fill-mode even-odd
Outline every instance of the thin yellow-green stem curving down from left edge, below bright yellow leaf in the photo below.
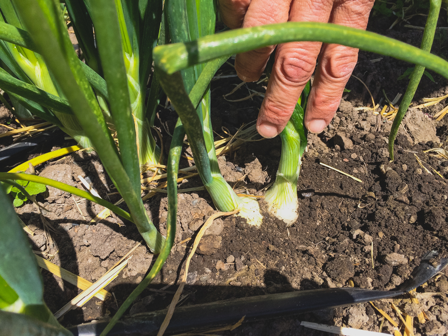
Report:
<svg viewBox="0 0 448 336"><path fill-rule="evenodd" d="M113 213L117 214L118 216L121 216L125 220L134 223L134 220L132 219L132 216L130 216L127 212L124 210L118 208L117 206L113 205L112 203L109 203L106 200L103 200L102 198L96 197L92 195L91 193L88 193L84 190L80 190L78 188L69 186L68 184L58 182L55 180L47 179L46 177L31 175L31 174L23 174L23 173L0 173L0 181L4 181L7 183L7 180L21 180L21 181L30 181L30 182L36 182L41 183L46 186L50 186L53 188L60 189L62 191L65 191L67 193L85 198L86 200L95 202L105 208L108 208Z"/></svg>

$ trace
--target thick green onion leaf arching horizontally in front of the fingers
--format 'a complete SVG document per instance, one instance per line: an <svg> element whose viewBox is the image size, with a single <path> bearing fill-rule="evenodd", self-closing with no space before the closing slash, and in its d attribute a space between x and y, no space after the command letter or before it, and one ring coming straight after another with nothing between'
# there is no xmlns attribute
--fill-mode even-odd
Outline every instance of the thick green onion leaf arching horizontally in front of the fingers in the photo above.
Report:
<svg viewBox="0 0 448 336"><path fill-rule="evenodd" d="M293 41L322 41L359 48L425 66L448 78L448 62L429 52L361 29L317 22L286 22L235 29L188 43L157 46L153 59L162 72L172 74L230 53Z"/></svg>

